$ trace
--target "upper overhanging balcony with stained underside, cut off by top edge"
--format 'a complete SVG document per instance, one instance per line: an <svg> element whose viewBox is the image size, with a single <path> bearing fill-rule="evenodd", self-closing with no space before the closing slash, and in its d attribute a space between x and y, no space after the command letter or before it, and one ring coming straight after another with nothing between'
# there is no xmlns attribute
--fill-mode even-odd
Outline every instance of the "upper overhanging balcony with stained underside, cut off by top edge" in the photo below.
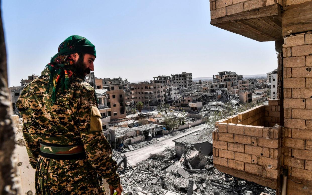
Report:
<svg viewBox="0 0 312 195"><path fill-rule="evenodd" d="M281 5L276 1L241 0L235 4L232 1L227 4L222 2L210 0L210 24L213 26L256 41L283 40Z"/></svg>

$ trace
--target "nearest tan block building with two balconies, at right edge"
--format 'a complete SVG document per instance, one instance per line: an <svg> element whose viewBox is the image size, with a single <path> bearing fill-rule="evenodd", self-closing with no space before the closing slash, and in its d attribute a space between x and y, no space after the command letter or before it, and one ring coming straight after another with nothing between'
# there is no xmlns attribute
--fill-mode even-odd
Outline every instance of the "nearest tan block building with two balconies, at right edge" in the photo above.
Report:
<svg viewBox="0 0 312 195"><path fill-rule="evenodd" d="M215 168L277 195L312 194L312 1L210 0L210 10L213 26L278 52L276 99L216 123Z"/></svg>

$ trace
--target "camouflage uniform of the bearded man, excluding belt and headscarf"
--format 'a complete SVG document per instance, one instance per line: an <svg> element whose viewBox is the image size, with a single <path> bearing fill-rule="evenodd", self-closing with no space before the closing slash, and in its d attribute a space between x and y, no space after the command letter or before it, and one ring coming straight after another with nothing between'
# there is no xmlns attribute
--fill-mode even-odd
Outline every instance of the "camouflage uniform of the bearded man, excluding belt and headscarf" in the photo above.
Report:
<svg viewBox="0 0 312 195"><path fill-rule="evenodd" d="M70 88L58 93L53 104L48 85L49 76L40 76L26 86L17 101L30 163L36 168L37 194L105 194L101 178L117 188L120 184L117 163L102 132L94 89L73 76ZM86 158L42 157L39 142L83 144Z"/></svg>

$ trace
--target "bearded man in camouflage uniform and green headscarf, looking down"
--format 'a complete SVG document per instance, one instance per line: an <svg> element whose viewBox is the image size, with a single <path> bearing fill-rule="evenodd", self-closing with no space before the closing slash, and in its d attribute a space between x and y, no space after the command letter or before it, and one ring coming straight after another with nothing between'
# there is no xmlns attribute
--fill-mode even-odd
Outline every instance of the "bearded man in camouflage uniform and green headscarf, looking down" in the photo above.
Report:
<svg viewBox="0 0 312 195"><path fill-rule="evenodd" d="M122 187L117 163L102 132L94 88L84 81L93 71L95 46L68 37L42 76L23 90L17 107L37 194L110 194Z"/></svg>

